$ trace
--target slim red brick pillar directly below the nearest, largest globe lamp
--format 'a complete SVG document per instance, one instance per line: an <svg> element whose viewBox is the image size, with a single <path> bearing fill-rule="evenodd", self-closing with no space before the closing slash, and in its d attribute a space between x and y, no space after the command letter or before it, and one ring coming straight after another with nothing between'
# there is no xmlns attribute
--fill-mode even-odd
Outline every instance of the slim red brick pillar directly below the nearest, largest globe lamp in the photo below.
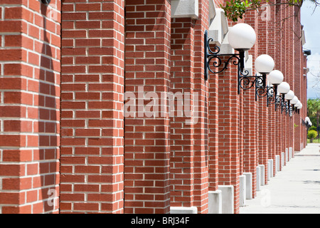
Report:
<svg viewBox="0 0 320 228"><path fill-rule="evenodd" d="M222 58L226 60L227 58ZM239 213L239 95L238 75L235 66L219 74L219 185L233 185L235 213Z"/></svg>

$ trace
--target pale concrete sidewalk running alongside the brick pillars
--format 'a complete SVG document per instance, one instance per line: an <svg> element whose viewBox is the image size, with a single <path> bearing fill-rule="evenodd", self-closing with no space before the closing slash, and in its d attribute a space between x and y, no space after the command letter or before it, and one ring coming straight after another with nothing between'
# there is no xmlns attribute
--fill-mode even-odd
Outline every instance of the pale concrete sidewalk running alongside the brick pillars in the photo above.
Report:
<svg viewBox="0 0 320 228"><path fill-rule="evenodd" d="M320 143L309 143L246 199L240 214L320 214Z"/></svg>

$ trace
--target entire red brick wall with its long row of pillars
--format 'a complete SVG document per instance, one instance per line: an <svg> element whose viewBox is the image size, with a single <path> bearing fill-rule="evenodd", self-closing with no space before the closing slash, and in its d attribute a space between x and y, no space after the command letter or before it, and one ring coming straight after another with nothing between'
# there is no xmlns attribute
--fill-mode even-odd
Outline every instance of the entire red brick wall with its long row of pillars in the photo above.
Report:
<svg viewBox="0 0 320 228"><path fill-rule="evenodd" d="M239 175L252 172L255 197L257 165L306 145L306 56L292 24L302 28L279 26L292 8L271 9L270 21L245 18L258 35L250 54L274 58L304 105L294 118L255 102L253 88L238 95L235 66L204 81L208 0L198 19L171 19L169 0L2 0L0 212L205 214L208 191L233 185L239 213ZM172 93L182 116L170 113Z"/></svg>

